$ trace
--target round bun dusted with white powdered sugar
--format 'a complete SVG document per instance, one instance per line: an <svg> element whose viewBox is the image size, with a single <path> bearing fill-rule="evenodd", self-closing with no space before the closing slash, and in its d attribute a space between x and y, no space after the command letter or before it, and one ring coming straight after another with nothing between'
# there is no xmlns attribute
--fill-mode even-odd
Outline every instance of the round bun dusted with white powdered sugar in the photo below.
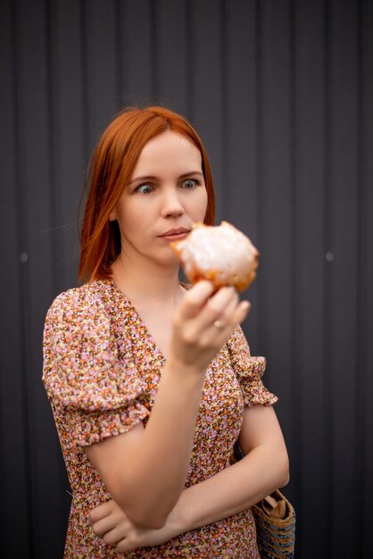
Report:
<svg viewBox="0 0 373 559"><path fill-rule="evenodd" d="M210 280L215 287L248 288L256 276L259 253L249 238L227 221L212 227L195 223L187 238L170 243L187 279Z"/></svg>

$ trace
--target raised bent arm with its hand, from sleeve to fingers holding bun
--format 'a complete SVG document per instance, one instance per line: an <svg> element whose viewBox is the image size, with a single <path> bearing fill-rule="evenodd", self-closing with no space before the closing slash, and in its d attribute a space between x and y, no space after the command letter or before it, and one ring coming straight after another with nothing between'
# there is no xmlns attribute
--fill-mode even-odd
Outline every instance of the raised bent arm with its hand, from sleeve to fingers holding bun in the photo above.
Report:
<svg viewBox="0 0 373 559"><path fill-rule="evenodd" d="M212 291L210 282L201 281L178 306L146 428L137 424L127 433L85 447L107 490L138 527L161 528L178 502L187 479L205 371L248 311L232 288L221 288L214 296ZM213 326L218 319L226 325L222 330Z"/></svg>

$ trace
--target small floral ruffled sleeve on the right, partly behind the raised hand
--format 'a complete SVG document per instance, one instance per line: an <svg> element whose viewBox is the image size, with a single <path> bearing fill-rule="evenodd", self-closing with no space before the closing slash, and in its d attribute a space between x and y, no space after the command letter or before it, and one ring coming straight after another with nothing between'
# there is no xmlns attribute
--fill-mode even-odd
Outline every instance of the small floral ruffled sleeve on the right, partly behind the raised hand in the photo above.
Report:
<svg viewBox="0 0 373 559"><path fill-rule="evenodd" d="M237 326L227 342L230 361L244 396L244 405L273 405L278 397L271 394L261 381L266 368L265 357L253 357L245 334Z"/></svg>

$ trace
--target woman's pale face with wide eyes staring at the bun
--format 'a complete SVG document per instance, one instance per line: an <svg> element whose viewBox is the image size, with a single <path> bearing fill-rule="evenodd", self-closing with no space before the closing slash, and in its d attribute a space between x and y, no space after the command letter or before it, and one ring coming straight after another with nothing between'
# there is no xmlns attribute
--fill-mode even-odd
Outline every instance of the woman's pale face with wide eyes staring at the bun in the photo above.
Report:
<svg viewBox="0 0 373 559"><path fill-rule="evenodd" d="M198 148L171 130L152 138L110 216L119 223L122 257L175 265L170 242L203 221L206 208Z"/></svg>

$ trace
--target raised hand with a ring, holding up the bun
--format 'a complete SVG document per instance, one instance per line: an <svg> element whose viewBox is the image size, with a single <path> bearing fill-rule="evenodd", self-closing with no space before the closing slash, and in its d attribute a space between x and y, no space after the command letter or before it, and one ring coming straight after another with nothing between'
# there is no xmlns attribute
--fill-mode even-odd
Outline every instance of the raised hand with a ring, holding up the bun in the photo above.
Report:
<svg viewBox="0 0 373 559"><path fill-rule="evenodd" d="M250 303L240 302L235 288L213 292L210 281L199 281L178 305L169 352L173 363L204 372L236 326L245 320Z"/></svg>

